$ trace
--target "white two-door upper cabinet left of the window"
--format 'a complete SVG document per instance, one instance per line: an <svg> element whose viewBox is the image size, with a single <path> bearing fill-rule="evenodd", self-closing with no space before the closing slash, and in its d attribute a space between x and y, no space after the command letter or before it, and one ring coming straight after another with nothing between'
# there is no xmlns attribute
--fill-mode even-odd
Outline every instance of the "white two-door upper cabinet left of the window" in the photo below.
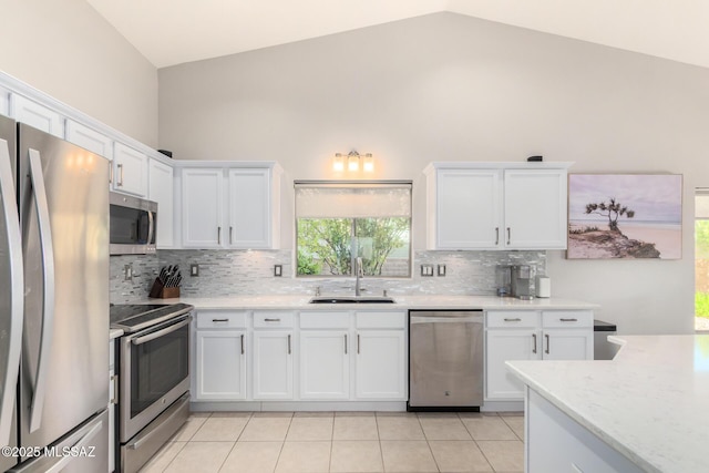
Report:
<svg viewBox="0 0 709 473"><path fill-rule="evenodd" d="M182 245L186 248L277 248L277 165L182 168Z"/></svg>

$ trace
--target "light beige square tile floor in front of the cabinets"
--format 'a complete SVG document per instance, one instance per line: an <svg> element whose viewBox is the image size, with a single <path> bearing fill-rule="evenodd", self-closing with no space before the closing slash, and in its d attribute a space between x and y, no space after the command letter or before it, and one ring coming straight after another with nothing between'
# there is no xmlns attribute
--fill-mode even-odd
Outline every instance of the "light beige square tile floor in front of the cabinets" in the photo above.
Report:
<svg viewBox="0 0 709 473"><path fill-rule="evenodd" d="M193 413L143 473L524 470L522 413Z"/></svg>

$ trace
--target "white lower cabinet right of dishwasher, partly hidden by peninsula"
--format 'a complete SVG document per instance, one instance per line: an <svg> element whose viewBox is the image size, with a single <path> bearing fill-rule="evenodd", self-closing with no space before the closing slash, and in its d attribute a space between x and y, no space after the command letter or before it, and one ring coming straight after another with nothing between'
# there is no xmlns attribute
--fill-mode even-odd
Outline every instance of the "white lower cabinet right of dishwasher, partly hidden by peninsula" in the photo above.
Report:
<svg viewBox="0 0 709 473"><path fill-rule="evenodd" d="M590 310L489 311L485 400L521 401L524 384L505 368L510 360L593 360Z"/></svg>

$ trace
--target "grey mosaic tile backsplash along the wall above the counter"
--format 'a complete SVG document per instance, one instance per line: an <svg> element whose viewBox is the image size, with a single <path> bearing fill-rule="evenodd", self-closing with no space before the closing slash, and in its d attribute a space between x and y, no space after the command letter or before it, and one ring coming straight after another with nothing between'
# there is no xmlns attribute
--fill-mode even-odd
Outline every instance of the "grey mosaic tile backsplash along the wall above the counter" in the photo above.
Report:
<svg viewBox="0 0 709 473"><path fill-rule="evenodd" d="M537 274L546 270L546 251L415 251L411 278L363 278L370 295L470 295L495 294L499 265L530 265ZM189 266L199 265L199 276L189 276ZM126 278L125 266L132 265ZM255 295L352 294L354 278L296 278L291 250L158 250L157 255L111 257L111 302L145 299L160 268L178 265L184 297L234 297ZM274 266L282 276L274 276ZM445 276L423 277L421 265L445 265ZM435 274L435 271L434 271Z"/></svg>

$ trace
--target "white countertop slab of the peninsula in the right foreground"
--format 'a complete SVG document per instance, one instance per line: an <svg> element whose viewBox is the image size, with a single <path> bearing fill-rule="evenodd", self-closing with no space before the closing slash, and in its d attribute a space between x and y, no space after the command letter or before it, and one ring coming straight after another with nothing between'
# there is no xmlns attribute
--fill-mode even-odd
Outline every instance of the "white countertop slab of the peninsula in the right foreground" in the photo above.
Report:
<svg viewBox="0 0 709 473"><path fill-rule="evenodd" d="M507 361L562 412L648 472L709 472L709 336L612 336L610 361Z"/></svg>

